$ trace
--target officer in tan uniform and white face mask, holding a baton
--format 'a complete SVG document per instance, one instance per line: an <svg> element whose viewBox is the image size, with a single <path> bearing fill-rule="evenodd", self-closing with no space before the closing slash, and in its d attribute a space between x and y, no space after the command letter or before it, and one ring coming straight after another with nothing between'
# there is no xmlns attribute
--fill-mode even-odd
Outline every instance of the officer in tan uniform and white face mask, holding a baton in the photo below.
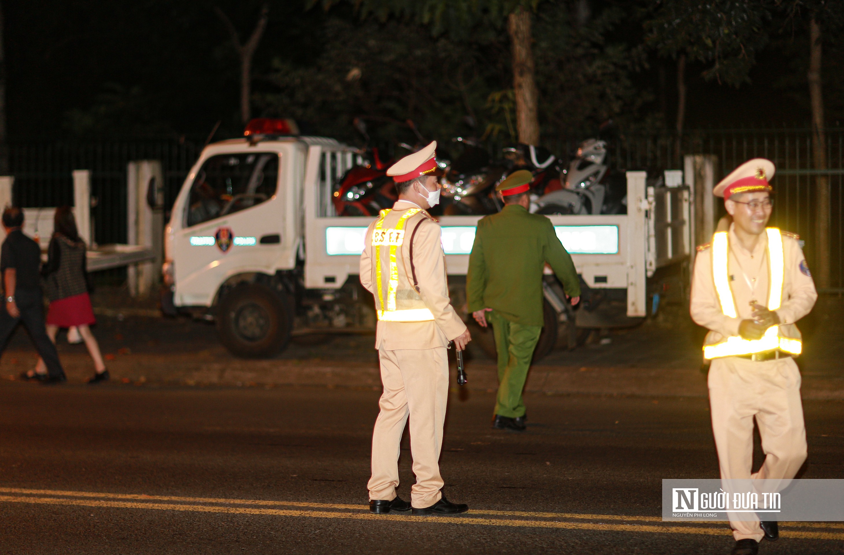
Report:
<svg viewBox="0 0 844 555"><path fill-rule="evenodd" d="M448 400L448 357L453 341L471 341L452 307L440 226L425 210L439 202L436 142L394 164L398 201L366 231L360 283L375 297L376 349L384 391L372 433L373 513L413 510L414 515L456 515L468 510L442 494L440 450ZM410 418L416 483L410 503L398 497L398 455Z"/></svg>

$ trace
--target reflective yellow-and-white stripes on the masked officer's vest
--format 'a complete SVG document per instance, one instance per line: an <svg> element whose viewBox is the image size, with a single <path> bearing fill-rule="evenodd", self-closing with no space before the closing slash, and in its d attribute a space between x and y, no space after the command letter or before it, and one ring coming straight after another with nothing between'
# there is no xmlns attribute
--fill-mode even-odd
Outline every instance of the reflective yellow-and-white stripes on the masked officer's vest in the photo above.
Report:
<svg viewBox="0 0 844 555"><path fill-rule="evenodd" d="M378 320L391 322L424 322L434 320L434 314L429 309L396 310L396 289L398 288L398 261L396 249L404 243L404 224L421 212L419 208L410 208L398 218L395 229L383 229L384 218L390 209L381 210L381 218L372 231L372 245L375 247L375 276L378 288L378 299L381 310L377 310ZM381 247L389 247L390 275L387 282L387 298L384 297L384 285L381 279ZM386 308L385 308L386 307Z"/></svg>

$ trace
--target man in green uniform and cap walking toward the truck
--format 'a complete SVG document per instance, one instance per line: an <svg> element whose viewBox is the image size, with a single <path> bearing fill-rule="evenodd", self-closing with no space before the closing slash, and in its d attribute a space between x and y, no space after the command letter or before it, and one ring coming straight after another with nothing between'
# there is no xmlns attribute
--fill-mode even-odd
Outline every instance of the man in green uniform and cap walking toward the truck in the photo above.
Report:
<svg viewBox="0 0 844 555"><path fill-rule="evenodd" d="M522 389L543 325L545 263L571 304L581 294L575 265L551 220L527 212L532 180L530 171L519 170L495 187L505 206L478 222L466 276L468 309L480 326L489 318L495 334L499 386L493 428L517 432L525 429Z"/></svg>

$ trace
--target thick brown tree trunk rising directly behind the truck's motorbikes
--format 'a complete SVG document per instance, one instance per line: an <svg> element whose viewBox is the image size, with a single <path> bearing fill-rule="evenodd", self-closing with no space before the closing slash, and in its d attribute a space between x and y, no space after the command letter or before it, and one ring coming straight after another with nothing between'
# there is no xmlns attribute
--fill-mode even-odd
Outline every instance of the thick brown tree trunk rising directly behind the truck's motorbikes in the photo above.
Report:
<svg viewBox="0 0 844 555"><path fill-rule="evenodd" d="M516 128L519 143L539 144L538 94L533 79L531 14L523 8L507 18L513 55L513 90L516 96Z"/></svg>

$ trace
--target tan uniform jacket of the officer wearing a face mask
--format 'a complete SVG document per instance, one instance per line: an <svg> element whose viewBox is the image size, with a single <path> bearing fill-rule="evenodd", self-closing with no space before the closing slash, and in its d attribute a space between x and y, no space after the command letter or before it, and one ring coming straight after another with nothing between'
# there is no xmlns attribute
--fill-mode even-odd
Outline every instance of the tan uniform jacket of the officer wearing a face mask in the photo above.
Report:
<svg viewBox="0 0 844 555"><path fill-rule="evenodd" d="M398 218L409 208L417 207L412 202L398 201L384 218L382 227L395 228ZM414 267L416 279L419 283L419 295L425 301L425 306L433 313L433 321L425 322L392 322L379 321L376 331L375 348L395 351L398 349L430 349L447 347L448 342L466 331L466 325L457 315L448 296L448 282L446 281L446 257L442 251L440 240L441 229L436 222L416 214L408 219L404 225L405 235L403 244L397 249L398 272L410 272L410 238L419 219L419 229L414 236ZM376 220L377 221L377 220ZM372 246L372 230L376 222L372 222L366 230L365 247L360 255L360 283L373 295L378 295L376 286L376 264L374 261L375 248ZM389 249L381 249L381 278L384 280L384 291L387 291L389 279ZM400 256L398 256L400 254ZM412 277L406 276L412 282ZM405 277L403 276L403 280Z"/></svg>

